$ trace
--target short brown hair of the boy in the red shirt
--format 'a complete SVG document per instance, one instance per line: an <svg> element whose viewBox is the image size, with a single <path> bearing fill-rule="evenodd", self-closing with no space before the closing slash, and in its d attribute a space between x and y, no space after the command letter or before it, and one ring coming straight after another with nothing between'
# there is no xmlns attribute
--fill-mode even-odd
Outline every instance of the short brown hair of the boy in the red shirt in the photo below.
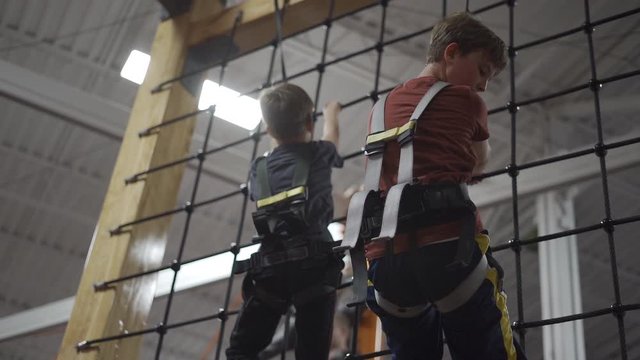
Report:
<svg viewBox="0 0 640 360"><path fill-rule="evenodd" d="M462 55L486 50L497 72L507 65L504 41L468 13L451 14L436 24L431 32L427 63L442 60L444 50L451 43L460 46Z"/></svg>

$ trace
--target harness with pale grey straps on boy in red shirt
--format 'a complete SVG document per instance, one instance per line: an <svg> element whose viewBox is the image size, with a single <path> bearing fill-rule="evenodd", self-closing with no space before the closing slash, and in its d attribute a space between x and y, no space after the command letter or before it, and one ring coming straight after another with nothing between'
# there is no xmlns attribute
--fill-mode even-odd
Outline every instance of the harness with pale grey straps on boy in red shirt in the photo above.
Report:
<svg viewBox="0 0 640 360"><path fill-rule="evenodd" d="M384 108L386 97L373 107L371 133L367 136L365 155L364 189L351 198L342 246L335 251L349 250L353 266L354 302L362 302L367 291L367 267L364 245L368 242L383 242L387 253L393 254L393 238L396 234L410 233L421 227L460 221L462 231L454 261L448 265L466 267L474 249L475 205L469 198L465 184L438 183L420 184L413 176L413 137L417 122L431 100L445 87L445 82L436 82L422 97L411 118L400 127L385 129ZM386 144L397 141L400 145L398 181L382 196L379 189L382 159ZM485 263L486 264L486 263ZM482 271L482 269L480 270ZM477 284L471 285L475 287ZM456 302L466 296L456 296ZM376 294L380 305L386 301ZM466 301L466 298L462 299ZM448 302L445 302L445 307ZM423 309L423 306L419 306ZM413 314L420 309L406 309ZM402 311L400 311L402 312Z"/></svg>

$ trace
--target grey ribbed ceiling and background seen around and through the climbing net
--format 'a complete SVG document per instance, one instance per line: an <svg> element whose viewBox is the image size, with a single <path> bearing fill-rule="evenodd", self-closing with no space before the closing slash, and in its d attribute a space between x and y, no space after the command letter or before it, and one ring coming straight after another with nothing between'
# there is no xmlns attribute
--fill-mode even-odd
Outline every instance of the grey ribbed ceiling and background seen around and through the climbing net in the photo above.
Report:
<svg viewBox="0 0 640 360"><path fill-rule="evenodd" d="M461 10L464 1L450 1L448 11ZM492 2L470 1L471 9ZM591 1L592 21L637 9L634 0ZM385 39L393 39L433 24L442 14L442 2L393 0L389 4ZM149 52L161 9L153 0L0 0L0 321L52 301L75 294L84 258L115 163L120 138L137 85L120 78L120 69L132 49ZM500 7L483 13L480 19L508 39L508 13ZM286 20L285 20L286 21ZM515 8L514 44L576 28L585 22L583 2L521 1ZM327 59L372 46L380 27L380 8L375 7L331 28ZM323 29L296 36L284 43L287 75L319 62ZM597 75L600 79L640 70L640 13L598 26L593 34ZM426 35L386 47L380 74L380 89L415 76L423 66ZM266 79L270 50L257 51L229 64L225 84L238 91L256 88ZM279 60L278 60L279 61ZM279 64L278 64L279 65ZM323 79L320 104L336 98L344 103L365 96L373 89L376 54L370 52L330 66ZM218 69L210 72L217 79ZM591 78L586 36L568 37L522 49L515 59L516 100L522 102L544 94L584 85ZM275 79L281 77L279 66ZM315 92L317 74L294 82ZM483 94L489 109L505 106L509 100L509 71L503 71ZM638 76L605 84L600 92L602 132L605 142L640 136L640 82ZM362 146L369 101L345 109L341 115L341 153L351 154ZM516 120L516 157L519 164L552 155L591 148L597 141L593 94L582 90L542 103L521 106ZM510 116L498 112L489 118L493 148L489 170L501 170L510 163ZM204 118L198 125L193 151L202 143ZM248 134L233 125L217 121L211 146L241 139ZM267 149L263 141L260 151ZM629 150L633 149L631 153ZM609 164L615 170L608 177L614 218L640 214L640 168L637 147L611 151ZM237 189L244 182L251 157L245 143L208 158L207 174L200 184L198 199L207 200ZM588 155L575 161L592 159ZM569 160L571 161L571 160ZM565 164L564 162L559 164ZM582 162L580 163L582 164ZM592 163L590 163L592 164ZM586 167L586 165L585 165ZM570 166L523 170L519 197L520 236L536 234L535 194L537 183L552 183L579 192L575 199L577 226L598 223L605 217L602 183L586 175L559 179ZM336 194L358 184L363 174L361 158L349 160L334 176ZM558 170L560 169L560 170ZM563 170L564 169L564 170ZM571 168L572 172L580 169ZM596 171L598 166L595 166ZM588 172L594 174L595 172ZM185 174L178 204L188 199L193 184L193 167ZM496 192L506 175L485 180ZM554 182L555 181L555 182ZM508 191L510 188L506 188ZM485 194L486 195L486 194ZM489 195L491 196L491 194ZM344 206L338 204L337 215ZM511 203L491 203L482 208L494 244L513 237ZM239 198L206 206L194 213L185 259L225 249L235 241L240 214ZM184 216L177 215L166 250L165 264L176 256ZM638 223L615 231L618 271L624 303L640 303L640 271L636 265L640 247L635 235ZM246 241L253 233L250 222L243 230ZM596 310L613 303L611 265L602 231L578 236L583 308ZM517 317L515 265L508 251L497 254L507 270L512 319ZM538 288L537 249L523 253L525 320L541 318ZM108 280L108 279L104 279ZM171 321L210 315L222 306L225 284L218 282L179 293ZM232 308L239 299L234 289ZM159 298L149 326L157 324L165 299ZM629 358L640 357L640 313L625 317ZM217 324L209 321L172 331L166 338L163 359L196 359L206 354ZM227 328L227 335L229 333ZM0 342L2 359L50 359L62 339L64 326L41 329ZM617 325L607 315L585 321L589 359L618 359ZM151 358L156 336L145 337L141 358ZM541 331L527 333L532 359L540 359Z"/></svg>

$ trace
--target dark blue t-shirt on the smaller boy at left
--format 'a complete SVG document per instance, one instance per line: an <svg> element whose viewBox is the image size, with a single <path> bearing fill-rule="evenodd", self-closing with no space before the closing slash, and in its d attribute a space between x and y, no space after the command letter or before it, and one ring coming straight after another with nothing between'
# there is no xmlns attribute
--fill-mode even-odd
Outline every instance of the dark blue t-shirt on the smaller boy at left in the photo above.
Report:
<svg viewBox="0 0 640 360"><path fill-rule="evenodd" d="M342 167L342 158L336 150L336 146L328 141L312 141L308 143L282 144L275 148L267 156L267 173L271 194L291 188L293 173L295 171L295 155L300 154L311 147L311 164L309 165L309 177L307 178L307 219L309 231L317 233L325 231L333 219L333 197L331 196L331 168ZM256 162L251 165L251 178L249 189L251 199L257 200L258 186L256 181Z"/></svg>

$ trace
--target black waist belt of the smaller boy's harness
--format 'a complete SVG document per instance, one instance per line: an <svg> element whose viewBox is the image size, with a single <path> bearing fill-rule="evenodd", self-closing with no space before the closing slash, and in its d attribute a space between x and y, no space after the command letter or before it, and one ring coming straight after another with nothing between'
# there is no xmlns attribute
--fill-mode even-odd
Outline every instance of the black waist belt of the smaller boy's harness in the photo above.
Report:
<svg viewBox="0 0 640 360"><path fill-rule="evenodd" d="M234 274L247 271L259 271L262 268L271 267L291 261L299 261L316 256L333 254L333 247L339 242L311 241L305 245L285 249L281 251L256 252L247 260L236 261Z"/></svg>

